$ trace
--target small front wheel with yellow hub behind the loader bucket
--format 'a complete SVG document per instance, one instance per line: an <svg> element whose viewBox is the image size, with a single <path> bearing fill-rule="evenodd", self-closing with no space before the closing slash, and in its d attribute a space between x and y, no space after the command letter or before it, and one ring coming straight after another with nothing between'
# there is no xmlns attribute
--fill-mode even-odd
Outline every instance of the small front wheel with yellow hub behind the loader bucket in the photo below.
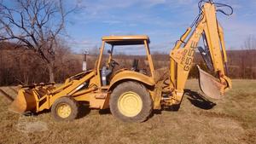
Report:
<svg viewBox="0 0 256 144"><path fill-rule="evenodd" d="M78 117L78 103L72 97L61 97L51 107L51 113L57 121L73 120Z"/></svg>

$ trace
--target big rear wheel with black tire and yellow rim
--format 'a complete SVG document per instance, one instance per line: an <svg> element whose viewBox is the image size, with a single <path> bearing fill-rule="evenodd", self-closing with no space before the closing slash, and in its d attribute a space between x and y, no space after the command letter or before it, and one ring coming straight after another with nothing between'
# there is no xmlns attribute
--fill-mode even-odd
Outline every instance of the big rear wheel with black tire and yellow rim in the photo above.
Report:
<svg viewBox="0 0 256 144"><path fill-rule="evenodd" d="M153 110L148 90L136 82L125 82L113 89L109 105L113 116L124 122L143 122Z"/></svg>

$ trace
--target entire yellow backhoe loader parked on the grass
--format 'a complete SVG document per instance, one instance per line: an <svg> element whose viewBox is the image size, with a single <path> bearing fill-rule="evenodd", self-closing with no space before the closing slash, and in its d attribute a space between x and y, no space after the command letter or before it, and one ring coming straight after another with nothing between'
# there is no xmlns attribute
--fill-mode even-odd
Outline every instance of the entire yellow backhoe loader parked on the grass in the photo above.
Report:
<svg viewBox="0 0 256 144"><path fill-rule="evenodd" d="M78 101L84 101L89 103L90 108L110 107L113 116L122 121L143 122L153 109L181 103L196 49L199 49L209 69L216 74L213 77L198 66L201 90L212 98L222 98L224 92L231 88L225 69L227 56L224 30L216 16L218 11L226 14L220 9L224 6L227 5L201 0L200 14L170 52L167 72L154 70L148 36L102 37L100 55L94 69L67 78L65 84L59 87L55 87L55 84L21 86L9 109L20 113L50 109L55 119L72 120L78 115ZM198 47L201 37L205 48ZM106 45L110 45L111 49L108 50L108 61L104 64L102 61L106 60L103 58L106 55L103 51ZM140 71L137 60L131 68L113 72L113 68L119 65L113 60L113 49L119 45L143 45L149 72Z"/></svg>

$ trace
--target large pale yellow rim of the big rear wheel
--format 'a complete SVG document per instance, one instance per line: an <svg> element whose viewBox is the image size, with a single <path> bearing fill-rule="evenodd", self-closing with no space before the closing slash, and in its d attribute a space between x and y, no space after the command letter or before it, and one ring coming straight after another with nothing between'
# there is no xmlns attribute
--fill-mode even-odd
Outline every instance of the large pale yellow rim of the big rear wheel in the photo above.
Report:
<svg viewBox="0 0 256 144"><path fill-rule="evenodd" d="M126 117L135 117L143 109L143 101L139 95L129 91L125 92L118 100L119 112Z"/></svg>

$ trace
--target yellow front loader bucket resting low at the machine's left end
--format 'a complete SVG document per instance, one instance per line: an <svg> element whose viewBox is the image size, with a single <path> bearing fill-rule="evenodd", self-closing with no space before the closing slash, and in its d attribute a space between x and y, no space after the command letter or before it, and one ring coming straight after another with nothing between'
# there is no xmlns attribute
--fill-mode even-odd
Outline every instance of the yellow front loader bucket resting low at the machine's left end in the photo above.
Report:
<svg viewBox="0 0 256 144"><path fill-rule="evenodd" d="M20 89L15 101L9 106L9 111L12 112L32 112L36 109L37 102L30 89Z"/></svg>

